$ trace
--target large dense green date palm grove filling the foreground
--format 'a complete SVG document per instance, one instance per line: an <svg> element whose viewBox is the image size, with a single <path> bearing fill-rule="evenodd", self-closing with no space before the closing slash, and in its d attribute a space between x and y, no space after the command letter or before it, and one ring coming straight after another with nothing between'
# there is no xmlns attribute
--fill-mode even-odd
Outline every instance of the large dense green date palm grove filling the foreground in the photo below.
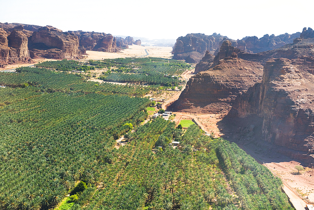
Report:
<svg viewBox="0 0 314 210"><path fill-rule="evenodd" d="M281 180L235 144L195 125L141 124L149 87L18 72L0 73L1 209L54 208L68 193L73 210L292 209Z"/></svg>

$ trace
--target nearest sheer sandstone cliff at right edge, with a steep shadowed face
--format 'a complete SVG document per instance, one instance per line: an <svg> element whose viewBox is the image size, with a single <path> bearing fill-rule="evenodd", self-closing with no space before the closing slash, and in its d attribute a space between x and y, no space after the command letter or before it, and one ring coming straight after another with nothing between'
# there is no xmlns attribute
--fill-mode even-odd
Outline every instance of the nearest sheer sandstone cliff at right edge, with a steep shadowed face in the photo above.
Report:
<svg viewBox="0 0 314 210"><path fill-rule="evenodd" d="M227 119L262 122L260 139L285 148L314 149L314 75L286 58L270 59L263 80L239 95ZM256 137L257 138L257 137Z"/></svg>

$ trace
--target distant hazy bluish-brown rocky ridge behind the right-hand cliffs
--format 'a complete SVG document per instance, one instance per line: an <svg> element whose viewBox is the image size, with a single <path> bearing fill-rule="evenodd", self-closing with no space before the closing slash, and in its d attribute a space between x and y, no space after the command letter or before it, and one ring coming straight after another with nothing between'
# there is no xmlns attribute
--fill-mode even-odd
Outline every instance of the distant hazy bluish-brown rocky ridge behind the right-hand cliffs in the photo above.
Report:
<svg viewBox="0 0 314 210"><path fill-rule="evenodd" d="M188 63L198 63L206 51L216 55L222 43L226 40L230 41L233 47L237 47L242 51L248 53L258 53L267 50L277 49L283 47L288 43L292 43L297 37L300 37L300 32L294 34L281 34L279 36L268 34L261 38L257 36L246 36L241 40L232 40L227 36L221 36L214 33L207 36L204 34L187 34L181 36L176 40L176 44L173 47L173 58L177 60L185 60Z"/></svg>

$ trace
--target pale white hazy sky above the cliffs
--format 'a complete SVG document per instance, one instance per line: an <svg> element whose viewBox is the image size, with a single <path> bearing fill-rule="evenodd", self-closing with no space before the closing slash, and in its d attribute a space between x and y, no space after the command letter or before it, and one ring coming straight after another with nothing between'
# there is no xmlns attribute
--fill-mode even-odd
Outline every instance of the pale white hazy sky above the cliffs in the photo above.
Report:
<svg viewBox="0 0 314 210"><path fill-rule="evenodd" d="M313 6L313 0L0 0L0 22L150 39L214 32L241 39L314 28Z"/></svg>

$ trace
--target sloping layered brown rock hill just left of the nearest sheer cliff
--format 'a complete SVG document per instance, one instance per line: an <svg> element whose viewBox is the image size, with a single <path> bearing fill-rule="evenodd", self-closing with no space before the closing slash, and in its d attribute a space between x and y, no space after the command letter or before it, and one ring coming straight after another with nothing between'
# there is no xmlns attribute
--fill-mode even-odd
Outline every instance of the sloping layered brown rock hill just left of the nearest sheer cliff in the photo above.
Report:
<svg viewBox="0 0 314 210"><path fill-rule="evenodd" d="M228 41L225 42L228 48ZM221 52L224 54L223 49ZM227 112L236 96L261 81L262 75L260 63L237 58L233 52L214 67L193 76L172 108L195 113Z"/></svg>

